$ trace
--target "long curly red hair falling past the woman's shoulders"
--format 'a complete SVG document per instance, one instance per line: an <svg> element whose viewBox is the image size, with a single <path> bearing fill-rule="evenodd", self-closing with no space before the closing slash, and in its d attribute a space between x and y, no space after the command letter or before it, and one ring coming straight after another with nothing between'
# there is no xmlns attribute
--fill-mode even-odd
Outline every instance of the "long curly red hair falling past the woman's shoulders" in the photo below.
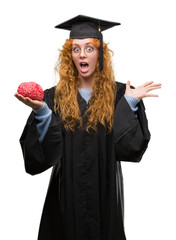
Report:
<svg viewBox="0 0 176 240"><path fill-rule="evenodd" d="M70 49L73 39L66 40L55 66L59 73L60 81L56 86L54 97L54 109L58 111L66 130L74 131L77 124L82 126L82 117L77 102L78 86L80 80L78 71L73 63ZM99 49L100 41L91 39L96 48ZM97 123L100 122L110 132L113 126L114 102L116 97L116 84L111 62L112 51L108 44L103 42L103 70L99 71L97 62L96 77L94 79L93 91L89 99L88 123L86 131L90 129L97 131Z"/></svg>

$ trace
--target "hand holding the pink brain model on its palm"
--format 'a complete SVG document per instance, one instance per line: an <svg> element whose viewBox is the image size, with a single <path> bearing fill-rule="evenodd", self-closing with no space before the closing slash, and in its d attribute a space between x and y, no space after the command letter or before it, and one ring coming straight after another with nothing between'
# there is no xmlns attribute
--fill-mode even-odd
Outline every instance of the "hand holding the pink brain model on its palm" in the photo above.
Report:
<svg viewBox="0 0 176 240"><path fill-rule="evenodd" d="M23 97L21 94L15 93L14 96L22 103L31 107L33 110L36 110L44 106L44 102L38 101L38 100L32 100L28 97Z"/></svg>

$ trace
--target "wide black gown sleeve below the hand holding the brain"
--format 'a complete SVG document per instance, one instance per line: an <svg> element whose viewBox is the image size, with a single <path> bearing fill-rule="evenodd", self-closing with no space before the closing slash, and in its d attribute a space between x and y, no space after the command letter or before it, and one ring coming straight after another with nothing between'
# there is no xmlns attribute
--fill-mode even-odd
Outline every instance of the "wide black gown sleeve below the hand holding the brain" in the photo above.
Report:
<svg viewBox="0 0 176 240"><path fill-rule="evenodd" d="M53 94L45 91L44 101L52 108ZM20 138L25 170L31 175L41 173L59 163L62 157L63 138L58 114L52 111L51 122L42 143L39 142L37 119L30 114Z"/></svg>

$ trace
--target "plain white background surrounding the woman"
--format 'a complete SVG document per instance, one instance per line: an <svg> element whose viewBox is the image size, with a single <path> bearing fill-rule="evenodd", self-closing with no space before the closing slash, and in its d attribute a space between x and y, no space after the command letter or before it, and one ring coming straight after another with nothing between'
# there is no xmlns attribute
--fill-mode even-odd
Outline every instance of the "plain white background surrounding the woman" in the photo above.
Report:
<svg viewBox="0 0 176 240"><path fill-rule="evenodd" d="M175 240L176 35L174 0L6 0L0 4L0 239L35 240L51 170L25 173L19 137L30 109L13 96L24 81L55 84L69 32L54 26L78 14L121 22L104 32L116 81L162 83L144 100L152 138L140 163L122 163L128 240Z"/></svg>

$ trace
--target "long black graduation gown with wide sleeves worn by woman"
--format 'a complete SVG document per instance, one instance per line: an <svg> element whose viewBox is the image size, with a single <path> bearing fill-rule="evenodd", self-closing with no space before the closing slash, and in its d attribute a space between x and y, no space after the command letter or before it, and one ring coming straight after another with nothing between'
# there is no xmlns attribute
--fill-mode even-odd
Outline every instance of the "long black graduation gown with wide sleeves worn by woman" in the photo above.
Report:
<svg viewBox="0 0 176 240"><path fill-rule="evenodd" d="M44 101L53 110L55 88ZM135 117L124 98L125 84L117 82L113 131L106 134L83 128L64 129L52 113L49 129L40 144L34 112L28 118L20 143L25 169L38 174L53 166L41 217L38 240L125 240L121 161L139 162L150 132L143 102ZM88 104L78 92L83 116ZM83 126L87 122L83 118Z"/></svg>

